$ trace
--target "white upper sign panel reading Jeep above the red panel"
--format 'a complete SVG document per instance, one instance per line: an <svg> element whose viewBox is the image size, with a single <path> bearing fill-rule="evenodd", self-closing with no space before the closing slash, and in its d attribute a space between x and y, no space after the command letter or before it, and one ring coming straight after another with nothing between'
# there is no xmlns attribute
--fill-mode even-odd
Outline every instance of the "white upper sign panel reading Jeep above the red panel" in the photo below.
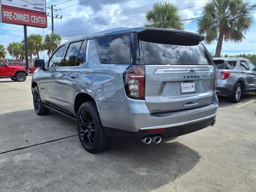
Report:
<svg viewBox="0 0 256 192"><path fill-rule="evenodd" d="M1 0L1 5L46 13L45 0Z"/></svg>

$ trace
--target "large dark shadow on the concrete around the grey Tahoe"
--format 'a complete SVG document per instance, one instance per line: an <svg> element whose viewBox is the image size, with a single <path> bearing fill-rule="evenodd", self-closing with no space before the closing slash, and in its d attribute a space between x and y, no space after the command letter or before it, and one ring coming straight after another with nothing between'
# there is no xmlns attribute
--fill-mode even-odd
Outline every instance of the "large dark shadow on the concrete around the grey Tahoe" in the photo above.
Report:
<svg viewBox="0 0 256 192"><path fill-rule="evenodd" d="M3 124L2 124L3 122ZM1 148L76 134L74 120L34 110L1 115ZM40 143L39 142L39 143ZM10 148L9 147L9 148ZM195 150L179 142L143 144L113 140L98 154L84 150L78 136L1 154L3 191L151 191L189 172L200 161Z"/></svg>

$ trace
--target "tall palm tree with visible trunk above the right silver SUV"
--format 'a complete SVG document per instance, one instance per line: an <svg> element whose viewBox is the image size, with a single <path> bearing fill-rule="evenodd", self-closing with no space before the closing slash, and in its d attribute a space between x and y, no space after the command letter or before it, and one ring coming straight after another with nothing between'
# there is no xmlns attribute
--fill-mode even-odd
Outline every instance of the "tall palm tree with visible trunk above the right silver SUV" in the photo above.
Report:
<svg viewBox="0 0 256 192"><path fill-rule="evenodd" d="M217 40L215 57L220 57L222 42L242 42L253 18L249 16L248 2L243 0L210 0L198 19L199 34L205 34L206 44Z"/></svg>

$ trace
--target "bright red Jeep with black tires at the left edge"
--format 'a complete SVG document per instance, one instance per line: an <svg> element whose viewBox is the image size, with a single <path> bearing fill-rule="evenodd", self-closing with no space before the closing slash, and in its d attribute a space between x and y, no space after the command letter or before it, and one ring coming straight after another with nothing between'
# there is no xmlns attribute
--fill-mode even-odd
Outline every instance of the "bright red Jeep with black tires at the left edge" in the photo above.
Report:
<svg viewBox="0 0 256 192"><path fill-rule="evenodd" d="M11 78L13 81L25 81L28 73L19 66L8 66L4 60L0 60L0 78Z"/></svg>

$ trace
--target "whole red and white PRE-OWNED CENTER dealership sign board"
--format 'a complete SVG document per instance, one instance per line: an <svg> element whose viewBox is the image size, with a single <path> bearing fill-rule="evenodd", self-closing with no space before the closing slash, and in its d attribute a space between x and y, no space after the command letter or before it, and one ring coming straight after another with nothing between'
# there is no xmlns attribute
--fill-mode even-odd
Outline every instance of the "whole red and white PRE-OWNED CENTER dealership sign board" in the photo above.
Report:
<svg viewBox="0 0 256 192"><path fill-rule="evenodd" d="M45 0L1 0L1 22L47 28Z"/></svg>

